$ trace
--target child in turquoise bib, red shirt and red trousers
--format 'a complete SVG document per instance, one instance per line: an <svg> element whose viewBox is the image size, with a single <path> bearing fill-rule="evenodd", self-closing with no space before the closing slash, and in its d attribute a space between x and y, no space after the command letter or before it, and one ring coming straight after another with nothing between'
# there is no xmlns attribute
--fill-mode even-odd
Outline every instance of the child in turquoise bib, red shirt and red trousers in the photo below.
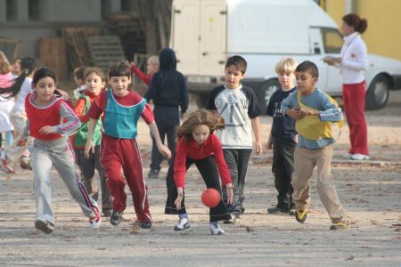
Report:
<svg viewBox="0 0 401 267"><path fill-rule="evenodd" d="M94 152L94 126L102 114L101 162L107 185L113 199L112 225L121 223L127 207L126 182L134 200L137 223L144 229L151 228L151 213L148 203L148 187L143 180L142 158L136 143L136 129L139 117L148 124L160 153L171 158L171 152L160 140L151 107L138 93L128 89L131 84L131 69L127 62L119 61L109 70L111 90L103 91L87 112L90 117L87 130L85 156ZM121 174L121 168L124 176Z"/></svg>

